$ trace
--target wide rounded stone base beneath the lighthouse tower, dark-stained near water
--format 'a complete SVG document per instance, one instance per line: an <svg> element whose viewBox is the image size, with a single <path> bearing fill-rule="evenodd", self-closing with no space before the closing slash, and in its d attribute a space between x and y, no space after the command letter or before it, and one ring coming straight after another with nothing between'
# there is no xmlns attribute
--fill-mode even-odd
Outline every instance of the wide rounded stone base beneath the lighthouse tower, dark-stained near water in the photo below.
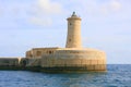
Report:
<svg viewBox="0 0 131 87"><path fill-rule="evenodd" d="M41 67L45 72L106 71L106 58L94 49L59 49L43 55Z"/></svg>

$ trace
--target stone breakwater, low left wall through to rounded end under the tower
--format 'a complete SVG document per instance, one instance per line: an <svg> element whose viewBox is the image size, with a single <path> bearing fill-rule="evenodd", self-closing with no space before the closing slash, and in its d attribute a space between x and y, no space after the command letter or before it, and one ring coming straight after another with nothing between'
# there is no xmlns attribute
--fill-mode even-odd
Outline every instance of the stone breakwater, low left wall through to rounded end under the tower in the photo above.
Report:
<svg viewBox="0 0 131 87"><path fill-rule="evenodd" d="M46 48L47 49L47 48ZM39 72L106 71L105 52L94 49L57 49L40 58L0 58L1 70Z"/></svg>

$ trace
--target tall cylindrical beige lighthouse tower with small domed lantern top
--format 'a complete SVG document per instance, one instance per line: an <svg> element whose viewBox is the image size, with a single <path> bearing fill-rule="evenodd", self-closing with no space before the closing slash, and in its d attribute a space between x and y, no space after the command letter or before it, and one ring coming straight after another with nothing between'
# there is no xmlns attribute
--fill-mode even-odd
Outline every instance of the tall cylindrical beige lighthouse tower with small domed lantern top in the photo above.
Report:
<svg viewBox="0 0 131 87"><path fill-rule="evenodd" d="M68 21L68 36L66 48L82 48L81 42L81 18L73 12Z"/></svg>

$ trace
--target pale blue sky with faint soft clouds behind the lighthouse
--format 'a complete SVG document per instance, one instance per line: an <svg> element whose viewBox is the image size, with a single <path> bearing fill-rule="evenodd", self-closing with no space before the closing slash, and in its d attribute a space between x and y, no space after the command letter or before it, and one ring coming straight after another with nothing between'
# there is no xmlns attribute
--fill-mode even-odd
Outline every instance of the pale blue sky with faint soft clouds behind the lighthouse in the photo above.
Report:
<svg viewBox="0 0 131 87"><path fill-rule="evenodd" d="M73 11L82 18L83 47L104 50L107 63L131 64L131 0L0 0L0 57L63 48Z"/></svg>

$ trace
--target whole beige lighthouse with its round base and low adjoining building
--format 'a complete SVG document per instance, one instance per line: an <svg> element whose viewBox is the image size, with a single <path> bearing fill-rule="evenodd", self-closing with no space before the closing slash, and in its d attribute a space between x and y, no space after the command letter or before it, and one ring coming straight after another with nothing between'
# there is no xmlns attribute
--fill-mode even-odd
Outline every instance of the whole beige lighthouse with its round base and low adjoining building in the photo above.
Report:
<svg viewBox="0 0 131 87"><path fill-rule="evenodd" d="M81 17L75 12L67 18L66 48L33 48L26 52L26 66L40 66L43 72L106 71L104 51L83 48L81 41Z"/></svg>

